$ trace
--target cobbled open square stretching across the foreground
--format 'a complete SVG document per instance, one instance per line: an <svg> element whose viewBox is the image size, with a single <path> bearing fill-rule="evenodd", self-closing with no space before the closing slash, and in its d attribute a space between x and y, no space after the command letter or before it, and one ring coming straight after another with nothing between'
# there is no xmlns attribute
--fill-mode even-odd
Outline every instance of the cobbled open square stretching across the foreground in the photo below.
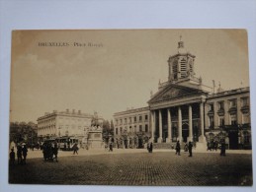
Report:
<svg viewBox="0 0 256 192"><path fill-rule="evenodd" d="M241 154L242 153L242 154ZM42 151L30 151L27 164L10 165L10 183L135 185L135 186L251 186L251 151L195 152L176 156L171 150L114 149L59 152L59 161L44 161Z"/></svg>

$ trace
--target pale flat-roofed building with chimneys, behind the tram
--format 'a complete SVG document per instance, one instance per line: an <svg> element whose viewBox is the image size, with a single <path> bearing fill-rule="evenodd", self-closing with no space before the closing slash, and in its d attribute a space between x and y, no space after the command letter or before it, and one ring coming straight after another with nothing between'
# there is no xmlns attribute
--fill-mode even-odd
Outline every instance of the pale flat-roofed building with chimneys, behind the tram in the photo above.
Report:
<svg viewBox="0 0 256 192"><path fill-rule="evenodd" d="M74 136L83 138L87 134L89 128L95 124L94 117L97 115L82 113L81 110L77 112L73 109L69 111L58 112L53 110L52 113L45 112L45 114L38 118L38 137L53 138L62 136ZM103 118L97 117L100 125L102 125Z"/></svg>

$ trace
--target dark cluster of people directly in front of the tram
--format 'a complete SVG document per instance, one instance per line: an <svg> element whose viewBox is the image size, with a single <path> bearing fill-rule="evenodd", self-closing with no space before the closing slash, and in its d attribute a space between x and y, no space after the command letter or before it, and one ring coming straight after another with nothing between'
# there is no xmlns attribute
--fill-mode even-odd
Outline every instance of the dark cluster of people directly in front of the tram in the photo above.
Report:
<svg viewBox="0 0 256 192"><path fill-rule="evenodd" d="M48 161L57 160L58 147L56 143L43 143L43 159Z"/></svg>

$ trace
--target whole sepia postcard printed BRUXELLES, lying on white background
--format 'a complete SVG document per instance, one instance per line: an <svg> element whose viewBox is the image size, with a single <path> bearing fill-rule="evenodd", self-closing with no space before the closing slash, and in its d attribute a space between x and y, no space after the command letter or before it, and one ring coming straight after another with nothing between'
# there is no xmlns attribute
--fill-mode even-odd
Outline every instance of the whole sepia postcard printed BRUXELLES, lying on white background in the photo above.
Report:
<svg viewBox="0 0 256 192"><path fill-rule="evenodd" d="M12 32L9 184L252 186L247 32Z"/></svg>

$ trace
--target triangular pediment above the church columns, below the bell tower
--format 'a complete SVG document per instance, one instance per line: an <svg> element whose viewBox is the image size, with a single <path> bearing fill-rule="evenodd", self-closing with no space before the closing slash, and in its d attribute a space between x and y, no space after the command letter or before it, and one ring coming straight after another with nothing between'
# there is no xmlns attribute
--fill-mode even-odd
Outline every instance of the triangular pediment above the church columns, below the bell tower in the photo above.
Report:
<svg viewBox="0 0 256 192"><path fill-rule="evenodd" d="M148 103L179 99L186 96L200 96L202 94L203 91L199 89L170 84L160 89L154 96L150 98L150 100L148 100Z"/></svg>

